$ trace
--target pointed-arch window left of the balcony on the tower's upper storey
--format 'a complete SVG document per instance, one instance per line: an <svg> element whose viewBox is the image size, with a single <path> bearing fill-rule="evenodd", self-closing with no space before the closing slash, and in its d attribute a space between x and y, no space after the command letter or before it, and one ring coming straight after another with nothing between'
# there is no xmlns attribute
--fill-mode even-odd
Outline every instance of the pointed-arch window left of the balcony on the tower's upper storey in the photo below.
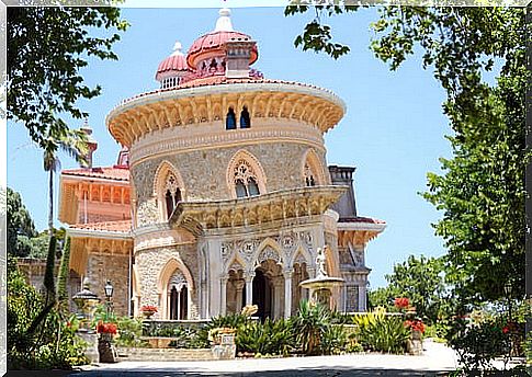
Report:
<svg viewBox="0 0 532 377"><path fill-rule="evenodd" d="M186 197L184 181L179 170L168 160L162 161L155 172L154 196L157 198L161 221L168 220L177 204Z"/></svg>

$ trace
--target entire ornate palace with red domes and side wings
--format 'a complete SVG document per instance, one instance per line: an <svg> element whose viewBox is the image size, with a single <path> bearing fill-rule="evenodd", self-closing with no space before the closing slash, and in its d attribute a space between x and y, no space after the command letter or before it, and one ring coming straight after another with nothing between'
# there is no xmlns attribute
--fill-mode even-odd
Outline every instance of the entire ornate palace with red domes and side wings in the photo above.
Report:
<svg viewBox="0 0 532 377"><path fill-rule="evenodd" d="M251 68L257 42L222 9L214 31L186 54L179 43L156 72L160 88L106 116L122 150L115 165L60 175L59 219L71 239L70 284L138 316L208 319L257 304L259 317L295 313L328 248L329 276L343 278L331 307L364 311L366 244L385 222L356 215L354 168L327 167L324 134L346 112L312 84ZM76 289L73 289L76 290Z"/></svg>

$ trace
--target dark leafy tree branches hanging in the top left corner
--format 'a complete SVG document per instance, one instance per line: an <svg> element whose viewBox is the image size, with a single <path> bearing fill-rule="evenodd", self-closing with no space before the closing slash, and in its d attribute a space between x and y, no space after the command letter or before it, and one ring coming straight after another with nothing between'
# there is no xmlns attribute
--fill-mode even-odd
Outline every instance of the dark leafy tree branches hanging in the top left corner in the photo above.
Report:
<svg viewBox="0 0 532 377"><path fill-rule="evenodd" d="M47 136L65 135L61 115L88 116L76 102L99 95L101 88L86 85L79 70L91 56L117 59L111 48L120 35L95 36L93 28L125 31L120 12L113 7L8 8L8 118L22 123L42 148L49 148Z"/></svg>

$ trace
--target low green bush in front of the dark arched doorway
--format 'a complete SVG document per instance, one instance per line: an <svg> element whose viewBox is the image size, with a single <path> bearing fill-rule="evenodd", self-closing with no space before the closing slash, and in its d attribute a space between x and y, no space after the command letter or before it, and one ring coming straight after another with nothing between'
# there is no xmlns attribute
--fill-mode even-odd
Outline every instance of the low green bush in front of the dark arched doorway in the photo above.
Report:
<svg viewBox="0 0 532 377"><path fill-rule="evenodd" d="M237 328L237 349L256 355L286 356L295 346L294 329L290 320L271 320L263 323L247 321Z"/></svg>

